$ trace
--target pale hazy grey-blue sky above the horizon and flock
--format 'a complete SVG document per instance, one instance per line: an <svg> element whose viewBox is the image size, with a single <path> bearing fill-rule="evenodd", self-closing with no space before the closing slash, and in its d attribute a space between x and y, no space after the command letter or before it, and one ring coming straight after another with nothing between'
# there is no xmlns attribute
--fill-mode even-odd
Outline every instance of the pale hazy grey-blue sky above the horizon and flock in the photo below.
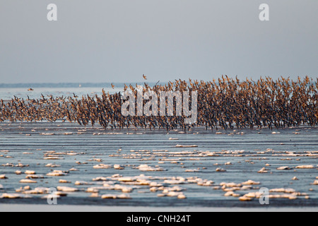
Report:
<svg viewBox="0 0 318 226"><path fill-rule="evenodd" d="M47 5L57 4L57 21ZM269 21L259 5L269 4ZM0 83L318 76L317 0L1 0Z"/></svg>

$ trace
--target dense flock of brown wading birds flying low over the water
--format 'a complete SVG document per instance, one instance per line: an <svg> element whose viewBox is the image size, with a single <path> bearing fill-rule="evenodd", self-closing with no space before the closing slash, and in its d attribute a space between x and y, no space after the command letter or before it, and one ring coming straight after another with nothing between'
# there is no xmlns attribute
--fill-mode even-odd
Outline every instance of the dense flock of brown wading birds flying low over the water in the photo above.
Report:
<svg viewBox="0 0 318 226"><path fill-rule="evenodd" d="M191 126L206 129L238 129L318 123L318 78L305 77L296 81L290 78L260 78L258 81L222 76L213 81L176 80L166 85L144 83L143 92L153 91L197 91L197 120L195 124L184 124L184 116L123 116L122 94L105 93L98 96L53 97L42 95L40 99L14 97L11 101L1 100L0 121L62 121L78 122L87 126L99 123L105 129L124 129L131 126L149 129L186 130ZM137 95L137 85L126 86ZM191 93L191 92L189 92ZM146 100L144 100L145 102ZM191 106L191 98L189 105ZM174 109L175 111L175 109ZM175 114L173 114L175 115Z"/></svg>

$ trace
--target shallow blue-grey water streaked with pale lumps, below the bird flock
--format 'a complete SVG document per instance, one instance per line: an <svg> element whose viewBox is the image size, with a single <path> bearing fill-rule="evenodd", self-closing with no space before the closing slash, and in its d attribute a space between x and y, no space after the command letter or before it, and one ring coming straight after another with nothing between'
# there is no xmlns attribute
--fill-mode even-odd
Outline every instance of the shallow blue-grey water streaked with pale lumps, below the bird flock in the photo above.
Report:
<svg viewBox="0 0 318 226"><path fill-rule="evenodd" d="M84 130L84 131L83 131ZM180 133L181 132L181 133ZM220 131L219 131L220 132ZM250 189L234 191L243 196L249 192L268 189L290 188L303 195L296 199L270 198L269 206L318 206L317 185L312 183L318 176L318 130L302 127L280 129L273 134L269 129L216 131L201 128L192 129L187 133L182 131L164 130L104 130L102 128L83 128L70 123L1 123L0 124L0 174L6 174L8 179L0 179L4 189L1 193L16 193L20 186L35 187L70 186L80 189L68 192L67 196L58 198L59 204L71 205L103 205L103 206L220 206L220 207L260 207L259 199L239 201L238 197L224 196L226 191L220 187L221 182L240 184L248 179L260 184L254 184ZM243 132L244 134L238 134ZM54 133L54 135L41 135ZM71 133L65 135L65 133ZM299 133L299 134L295 134ZM26 135L31 136L26 136ZM170 140L169 138L178 138ZM177 148L181 145L197 145L197 147ZM6 150L6 151L5 151ZM134 151L132 151L134 150ZM54 151L54 156L60 160L47 160L47 152ZM288 155L286 152L293 152ZM7 158L11 156L11 158ZM101 159L97 162L94 159ZM92 161L93 160L93 161ZM18 163L29 165L18 167ZM76 162L86 163L78 164ZM231 165L225 165L231 162ZM12 163L14 166L4 166ZM61 165L60 167L46 167L48 163ZM111 165L109 169L94 169L98 164ZM114 169L113 165L121 165L124 169ZM153 168L162 167L165 171L143 172L136 167L146 164ZM269 164L266 166L266 164ZM313 165L311 169L296 169L298 165ZM288 166L290 170L276 168ZM266 167L268 173L258 173ZM76 168L78 171L69 171ZM217 168L225 172L216 172ZM69 171L64 177L47 176L52 170ZM186 169L197 169L199 172L185 172ZM17 175L16 170L34 170L43 179L33 179L36 184L22 184L26 174ZM144 174L150 182L163 184L165 188L181 187L187 198L158 197L163 191L151 192L149 185L131 185L119 182L114 174L122 177L136 177ZM129 199L102 199L103 194L123 194L119 190L100 189L98 197L90 197L86 192L90 187L102 186L104 182L93 182L93 178L106 177L107 182L130 187ZM173 178L175 177L175 178ZM182 177L182 184L168 184L165 179ZM199 178L213 181L209 186L199 186L189 182L189 178ZM292 180L298 177L298 180ZM61 184L59 179L66 179L70 184ZM91 184L75 185L76 181ZM241 186L242 187L242 186ZM305 194L306 195L305 195ZM282 194L282 193L270 193ZM8 199L0 198L0 203L28 203L46 204L47 199L41 198L45 194L31 194L30 198ZM306 196L306 198L305 198Z"/></svg>

